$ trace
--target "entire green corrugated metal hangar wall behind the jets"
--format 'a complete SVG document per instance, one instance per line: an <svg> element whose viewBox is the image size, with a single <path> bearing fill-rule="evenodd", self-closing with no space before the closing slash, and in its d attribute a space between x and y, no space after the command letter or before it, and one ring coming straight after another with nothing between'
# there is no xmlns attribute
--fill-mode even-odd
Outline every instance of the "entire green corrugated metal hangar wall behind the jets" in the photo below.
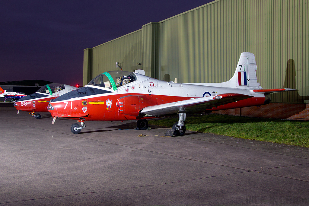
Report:
<svg viewBox="0 0 309 206"><path fill-rule="evenodd" d="M85 49L83 84L116 70L116 62L125 71L143 69L147 76L165 81L225 82L233 76L240 53L251 52L264 89L298 89L271 95L272 103L290 110L301 104L307 112L308 4L307 0L217 0L148 23L138 31ZM297 115L301 109L289 115ZM234 113L244 115L238 110ZM306 118L308 113L294 119Z"/></svg>

